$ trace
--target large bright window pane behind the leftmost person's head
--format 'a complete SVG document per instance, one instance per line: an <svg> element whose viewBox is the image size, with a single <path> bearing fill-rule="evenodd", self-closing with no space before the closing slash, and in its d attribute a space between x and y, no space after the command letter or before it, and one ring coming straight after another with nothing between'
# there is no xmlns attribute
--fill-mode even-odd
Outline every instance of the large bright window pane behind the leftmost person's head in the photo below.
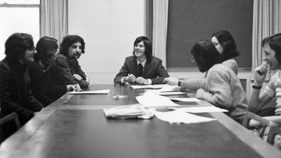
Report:
<svg viewBox="0 0 281 158"><path fill-rule="evenodd" d="M0 7L0 60L5 57L5 41L15 33L28 33L33 37L34 45L39 40L39 8Z"/></svg>

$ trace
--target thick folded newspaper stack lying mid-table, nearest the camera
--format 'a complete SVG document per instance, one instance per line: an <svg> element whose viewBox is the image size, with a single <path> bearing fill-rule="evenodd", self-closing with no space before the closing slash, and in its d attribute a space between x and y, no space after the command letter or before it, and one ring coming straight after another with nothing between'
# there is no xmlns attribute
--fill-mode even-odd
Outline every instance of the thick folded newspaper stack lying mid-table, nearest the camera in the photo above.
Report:
<svg viewBox="0 0 281 158"><path fill-rule="evenodd" d="M144 106L139 104L104 108L104 115L107 118L119 118L119 119L127 119L127 118L150 119L154 116L153 110L144 109Z"/></svg>

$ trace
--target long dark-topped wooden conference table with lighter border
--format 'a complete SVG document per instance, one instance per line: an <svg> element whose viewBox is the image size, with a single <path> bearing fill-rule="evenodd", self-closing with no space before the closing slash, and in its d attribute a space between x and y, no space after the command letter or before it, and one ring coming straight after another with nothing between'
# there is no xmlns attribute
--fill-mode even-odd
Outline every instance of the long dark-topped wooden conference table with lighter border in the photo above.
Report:
<svg viewBox="0 0 281 158"><path fill-rule="evenodd" d="M44 108L0 146L0 157L279 157L281 152L224 113L216 121L170 124L154 117L106 119L103 107L137 103L143 89L91 85L103 95L69 95ZM112 99L119 92L128 99ZM188 93L194 97L194 94ZM178 95L176 97L188 97ZM180 103L180 102L177 102ZM183 106L210 106L204 100ZM165 110L165 108L160 108Z"/></svg>

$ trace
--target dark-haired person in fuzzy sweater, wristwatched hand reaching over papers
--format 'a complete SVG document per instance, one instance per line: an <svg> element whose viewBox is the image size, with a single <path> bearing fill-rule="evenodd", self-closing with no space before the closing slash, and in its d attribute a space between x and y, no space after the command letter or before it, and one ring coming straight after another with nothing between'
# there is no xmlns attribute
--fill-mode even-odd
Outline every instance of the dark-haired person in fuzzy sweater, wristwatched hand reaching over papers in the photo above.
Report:
<svg viewBox="0 0 281 158"><path fill-rule="evenodd" d="M248 100L237 75L228 66L221 64L221 55L211 41L202 40L195 43L191 54L199 70L207 72L205 87L197 90L196 98L228 110L229 117L242 123ZM163 82L188 87L186 79L165 78Z"/></svg>

